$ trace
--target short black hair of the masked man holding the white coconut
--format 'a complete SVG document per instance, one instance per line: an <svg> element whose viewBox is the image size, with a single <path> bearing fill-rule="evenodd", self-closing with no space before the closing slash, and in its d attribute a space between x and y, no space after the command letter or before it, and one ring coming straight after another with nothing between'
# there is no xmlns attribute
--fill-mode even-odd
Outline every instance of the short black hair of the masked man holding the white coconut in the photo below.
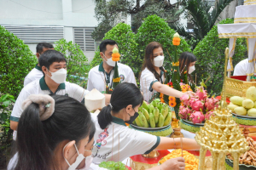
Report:
<svg viewBox="0 0 256 170"><path fill-rule="evenodd" d="M49 49L45 51L44 54L40 55L38 59L40 67L42 68L42 66L45 66L48 69L49 65L53 64L54 62L59 63L61 61L67 62L67 59L64 57L63 54L54 49Z"/></svg>

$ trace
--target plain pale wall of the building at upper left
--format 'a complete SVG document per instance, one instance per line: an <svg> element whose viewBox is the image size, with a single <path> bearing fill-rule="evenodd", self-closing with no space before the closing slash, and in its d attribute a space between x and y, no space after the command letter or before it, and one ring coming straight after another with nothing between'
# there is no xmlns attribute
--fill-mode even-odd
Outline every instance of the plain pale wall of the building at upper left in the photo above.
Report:
<svg viewBox="0 0 256 170"><path fill-rule="evenodd" d="M74 41L73 27L97 26L94 8L93 0L0 0L0 26L63 26L63 37ZM26 44L36 52L37 43Z"/></svg>

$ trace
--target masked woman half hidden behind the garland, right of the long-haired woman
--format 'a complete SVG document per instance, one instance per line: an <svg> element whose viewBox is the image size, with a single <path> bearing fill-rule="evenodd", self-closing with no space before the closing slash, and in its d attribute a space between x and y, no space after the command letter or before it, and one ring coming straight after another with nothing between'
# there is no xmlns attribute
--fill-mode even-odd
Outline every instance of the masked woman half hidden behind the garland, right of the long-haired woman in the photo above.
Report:
<svg viewBox="0 0 256 170"><path fill-rule="evenodd" d="M188 78L190 83L195 83L191 77L191 73L195 71L195 62L196 57L194 54L189 52L183 52L179 59L179 72L184 73L184 71L188 71Z"/></svg>

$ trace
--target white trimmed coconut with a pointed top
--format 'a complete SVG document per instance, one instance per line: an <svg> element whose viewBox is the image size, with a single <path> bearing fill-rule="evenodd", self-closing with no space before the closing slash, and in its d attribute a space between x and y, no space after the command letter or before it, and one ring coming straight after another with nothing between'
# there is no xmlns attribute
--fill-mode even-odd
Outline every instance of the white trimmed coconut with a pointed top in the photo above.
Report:
<svg viewBox="0 0 256 170"><path fill-rule="evenodd" d="M89 94L84 96L84 105L88 111L96 111L105 106L105 95L93 88Z"/></svg>

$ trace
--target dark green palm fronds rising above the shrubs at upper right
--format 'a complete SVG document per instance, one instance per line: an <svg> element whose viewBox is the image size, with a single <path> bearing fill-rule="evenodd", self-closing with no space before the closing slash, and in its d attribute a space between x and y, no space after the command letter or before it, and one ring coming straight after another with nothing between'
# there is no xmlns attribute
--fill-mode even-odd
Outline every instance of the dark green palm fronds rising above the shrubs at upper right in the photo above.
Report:
<svg viewBox="0 0 256 170"><path fill-rule="evenodd" d="M201 41L211 31L212 26L216 24L219 14L232 1L218 0L215 2L215 6L212 7L204 0L182 0L183 10L187 11L186 18L194 26L193 32L188 33L186 27L177 23L170 26L186 39L192 40L192 48L195 48L197 42Z"/></svg>

